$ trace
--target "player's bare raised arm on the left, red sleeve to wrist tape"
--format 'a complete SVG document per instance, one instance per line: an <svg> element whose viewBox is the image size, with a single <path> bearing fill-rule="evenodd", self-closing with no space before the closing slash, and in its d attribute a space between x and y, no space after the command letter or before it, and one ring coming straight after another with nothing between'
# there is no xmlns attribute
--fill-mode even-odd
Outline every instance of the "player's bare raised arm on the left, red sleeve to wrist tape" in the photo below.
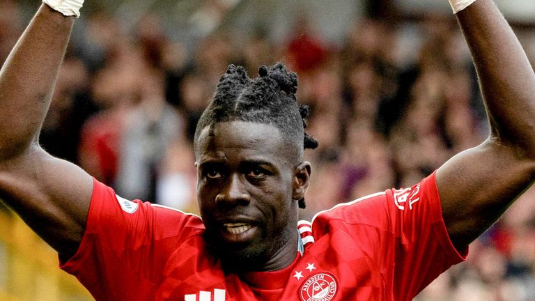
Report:
<svg viewBox="0 0 535 301"><path fill-rule="evenodd" d="M63 258L84 235L93 179L38 135L73 23L43 4L0 71L0 199Z"/></svg>

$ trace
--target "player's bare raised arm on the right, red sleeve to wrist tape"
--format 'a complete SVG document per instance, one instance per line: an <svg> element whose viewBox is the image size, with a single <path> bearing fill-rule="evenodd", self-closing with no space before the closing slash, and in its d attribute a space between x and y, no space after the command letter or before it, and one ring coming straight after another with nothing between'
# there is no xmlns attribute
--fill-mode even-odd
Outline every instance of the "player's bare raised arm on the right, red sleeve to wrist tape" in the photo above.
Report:
<svg viewBox="0 0 535 301"><path fill-rule="evenodd" d="M535 179L535 75L492 0L456 14L476 65L490 137L437 171L444 221L458 248L493 224Z"/></svg>

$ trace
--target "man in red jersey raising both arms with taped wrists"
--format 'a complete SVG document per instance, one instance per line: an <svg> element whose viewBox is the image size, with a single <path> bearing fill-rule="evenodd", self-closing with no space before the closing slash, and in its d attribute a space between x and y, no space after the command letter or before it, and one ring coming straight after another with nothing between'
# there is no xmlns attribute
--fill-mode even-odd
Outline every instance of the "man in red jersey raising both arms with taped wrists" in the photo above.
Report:
<svg viewBox="0 0 535 301"><path fill-rule="evenodd" d="M82 6L45 2L0 75L0 196L97 300L411 300L534 180L534 72L492 0L451 0L492 130L421 183L298 223L297 78L231 65L195 135L203 220L127 201L37 143Z"/></svg>

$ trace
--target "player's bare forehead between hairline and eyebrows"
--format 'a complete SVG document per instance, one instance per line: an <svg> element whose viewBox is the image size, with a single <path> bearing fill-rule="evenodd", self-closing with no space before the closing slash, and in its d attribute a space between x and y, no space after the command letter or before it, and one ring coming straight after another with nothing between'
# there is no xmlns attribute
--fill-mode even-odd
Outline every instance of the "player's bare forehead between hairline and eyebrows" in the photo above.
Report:
<svg viewBox="0 0 535 301"><path fill-rule="evenodd" d="M265 123L228 121L199 134L196 160L289 160L293 153L279 129Z"/></svg>

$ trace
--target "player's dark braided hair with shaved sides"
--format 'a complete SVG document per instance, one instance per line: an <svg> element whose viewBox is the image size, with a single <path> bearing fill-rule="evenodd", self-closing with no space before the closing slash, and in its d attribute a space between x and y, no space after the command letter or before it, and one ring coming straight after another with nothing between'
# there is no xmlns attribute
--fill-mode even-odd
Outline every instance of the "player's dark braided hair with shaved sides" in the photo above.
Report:
<svg viewBox="0 0 535 301"><path fill-rule="evenodd" d="M285 139L299 144L299 151L318 147L318 141L304 132L309 107L298 105L297 75L282 63L263 65L259 77L249 78L242 66L229 65L219 79L214 98L203 112L195 130L195 145L201 131L225 121L246 121L274 125ZM299 200L304 208L304 199Z"/></svg>

